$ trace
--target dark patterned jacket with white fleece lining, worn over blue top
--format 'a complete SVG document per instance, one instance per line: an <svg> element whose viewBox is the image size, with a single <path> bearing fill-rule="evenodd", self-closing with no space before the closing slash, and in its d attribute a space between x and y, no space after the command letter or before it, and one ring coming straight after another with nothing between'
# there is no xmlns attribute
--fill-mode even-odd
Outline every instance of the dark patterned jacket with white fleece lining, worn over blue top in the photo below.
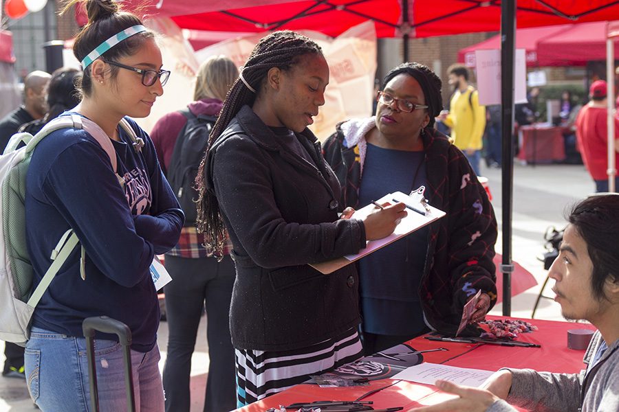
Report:
<svg viewBox="0 0 619 412"><path fill-rule="evenodd" d="M365 135L374 117L338 124L323 146L323 155L343 187L342 208L358 208L358 190L365 161ZM426 152L430 205L447 216L430 225L420 299L428 323L437 331L455 334L468 297L482 292L497 301L495 242L497 220L486 190L477 181L464 154L437 130L422 136ZM362 206L362 205L361 205ZM470 325L462 334L479 334Z"/></svg>

